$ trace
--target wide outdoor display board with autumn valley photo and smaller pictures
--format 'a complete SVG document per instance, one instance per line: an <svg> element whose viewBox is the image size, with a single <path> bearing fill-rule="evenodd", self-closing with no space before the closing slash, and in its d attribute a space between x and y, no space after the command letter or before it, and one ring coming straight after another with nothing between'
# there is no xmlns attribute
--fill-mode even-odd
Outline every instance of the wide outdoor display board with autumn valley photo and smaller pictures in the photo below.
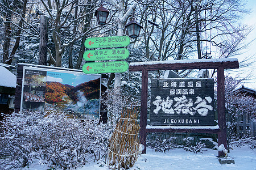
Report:
<svg viewBox="0 0 256 170"><path fill-rule="evenodd" d="M65 111L76 118L98 118L101 75L23 67L20 109Z"/></svg>

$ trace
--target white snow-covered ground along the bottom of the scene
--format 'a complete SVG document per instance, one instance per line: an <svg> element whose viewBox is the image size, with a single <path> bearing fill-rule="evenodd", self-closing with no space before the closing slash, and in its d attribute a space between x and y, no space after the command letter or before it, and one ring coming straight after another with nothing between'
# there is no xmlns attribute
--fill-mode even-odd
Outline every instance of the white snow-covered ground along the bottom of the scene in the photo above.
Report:
<svg viewBox="0 0 256 170"><path fill-rule="evenodd" d="M147 148L147 154L139 156L138 161L130 170L162 170L162 169L225 169L225 170L251 170L256 169L256 149L251 149L247 146L235 147L230 151L228 156L234 159L235 164L223 164L218 162L216 157L218 152L216 150L207 150L203 153L194 154L180 149L170 150L166 153L155 152ZM77 170L105 170L106 166L102 167L101 164L90 162L84 167ZM26 169L47 169L38 164L31 165Z"/></svg>

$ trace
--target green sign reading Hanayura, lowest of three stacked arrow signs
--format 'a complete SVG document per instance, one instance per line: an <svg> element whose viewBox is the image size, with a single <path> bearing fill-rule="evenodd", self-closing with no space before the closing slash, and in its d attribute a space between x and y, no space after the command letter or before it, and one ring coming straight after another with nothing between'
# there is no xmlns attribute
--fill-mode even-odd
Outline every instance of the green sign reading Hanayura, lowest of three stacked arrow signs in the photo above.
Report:
<svg viewBox="0 0 256 170"><path fill-rule="evenodd" d="M82 71L86 74L91 73L122 73L128 69L126 61L113 62L88 62L82 66Z"/></svg>

